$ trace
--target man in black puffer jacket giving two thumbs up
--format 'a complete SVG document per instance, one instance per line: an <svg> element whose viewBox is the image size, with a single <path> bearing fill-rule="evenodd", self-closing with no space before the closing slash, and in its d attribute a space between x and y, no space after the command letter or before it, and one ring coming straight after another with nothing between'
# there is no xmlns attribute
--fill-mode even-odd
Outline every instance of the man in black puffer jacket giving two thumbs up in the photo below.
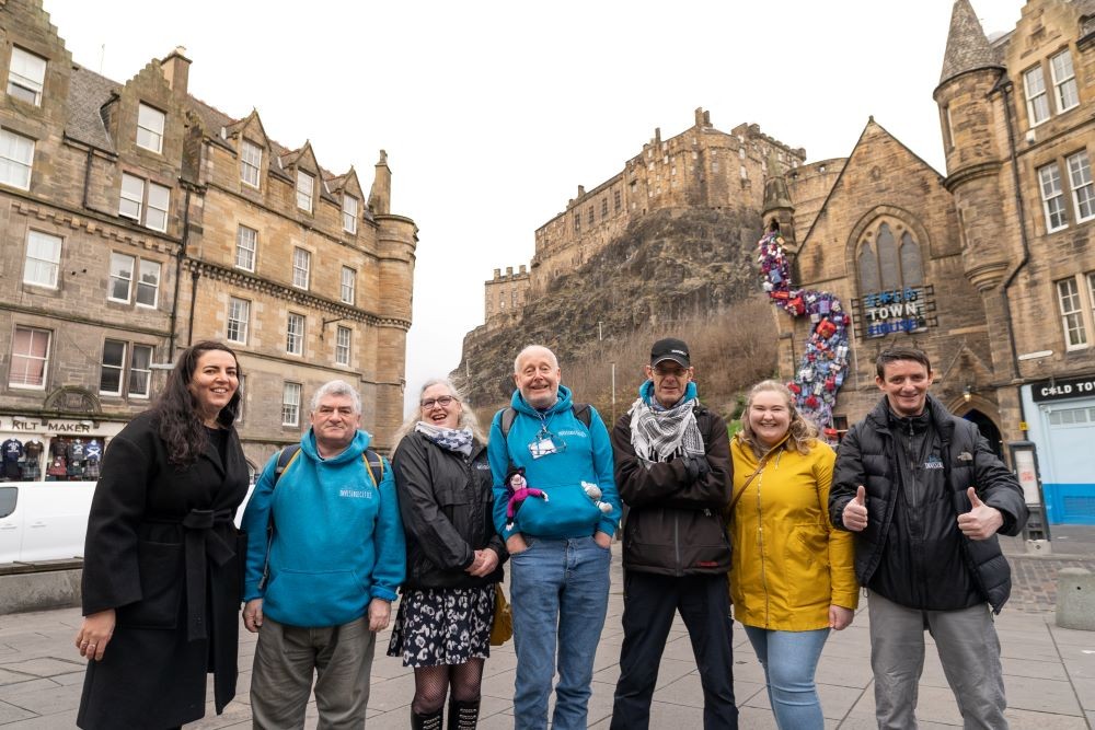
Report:
<svg viewBox="0 0 1095 730"><path fill-rule="evenodd" d="M857 533L878 727L917 726L926 628L965 727L1006 728L990 607L999 613L1011 592L996 533L1023 529L1023 491L977 426L927 394L924 352L891 348L876 370L885 397L840 444L829 512Z"/></svg>

